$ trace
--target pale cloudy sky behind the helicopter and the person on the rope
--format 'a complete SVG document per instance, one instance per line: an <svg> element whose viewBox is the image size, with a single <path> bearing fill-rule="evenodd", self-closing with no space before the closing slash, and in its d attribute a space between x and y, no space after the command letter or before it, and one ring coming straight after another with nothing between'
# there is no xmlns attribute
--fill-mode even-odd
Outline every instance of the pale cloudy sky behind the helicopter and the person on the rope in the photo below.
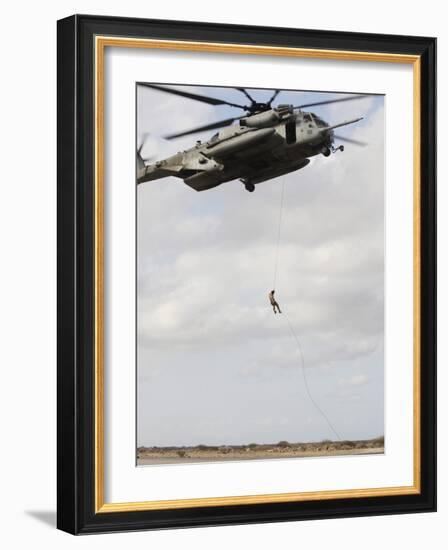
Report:
<svg viewBox="0 0 448 550"><path fill-rule="evenodd" d="M262 101L272 91L251 93ZM282 92L276 103L330 97L338 94ZM177 178L138 186L139 446L334 439L306 392L286 318L267 300L283 182L276 296L308 386L342 438L383 434L383 101L313 108L332 124L363 116L338 133L368 146L344 144L254 193L238 181L202 193ZM161 136L237 114L138 87L137 141L149 132L143 156L164 158L214 131Z"/></svg>

